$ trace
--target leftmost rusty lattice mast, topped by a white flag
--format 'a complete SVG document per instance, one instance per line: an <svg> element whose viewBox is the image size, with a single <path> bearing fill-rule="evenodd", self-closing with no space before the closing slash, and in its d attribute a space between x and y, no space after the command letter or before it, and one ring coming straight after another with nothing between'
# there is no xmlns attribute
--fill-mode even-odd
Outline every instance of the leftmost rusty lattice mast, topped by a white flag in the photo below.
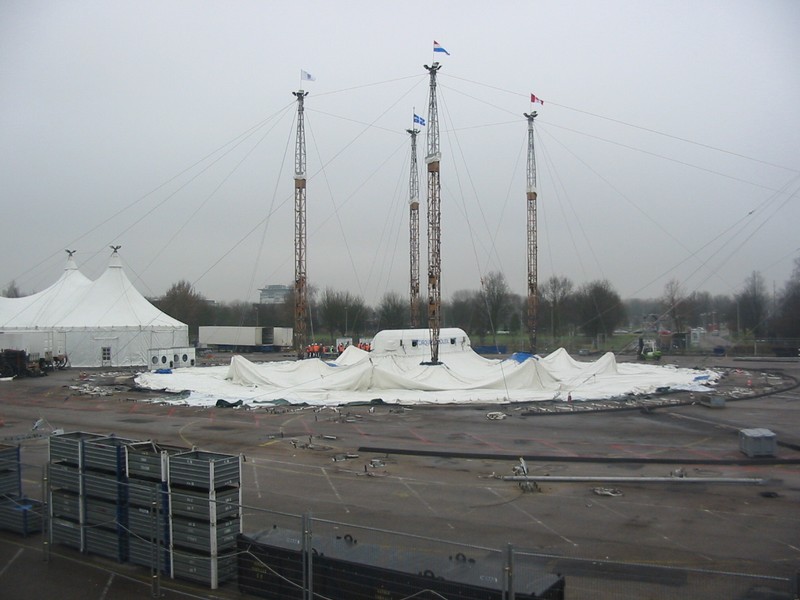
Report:
<svg viewBox="0 0 800 600"><path fill-rule="evenodd" d="M308 92L292 92L297 98L297 142L294 150L294 348L298 358L305 356L306 315L306 130L303 99Z"/></svg>

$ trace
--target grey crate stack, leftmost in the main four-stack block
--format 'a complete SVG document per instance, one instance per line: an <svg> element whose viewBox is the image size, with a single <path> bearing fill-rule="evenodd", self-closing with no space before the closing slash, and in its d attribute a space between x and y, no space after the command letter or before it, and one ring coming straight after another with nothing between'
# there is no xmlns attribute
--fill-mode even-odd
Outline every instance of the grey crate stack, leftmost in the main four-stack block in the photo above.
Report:
<svg viewBox="0 0 800 600"><path fill-rule="evenodd" d="M50 438L48 464L50 541L86 549L84 524L84 450L86 442L102 438L97 433L74 431Z"/></svg>

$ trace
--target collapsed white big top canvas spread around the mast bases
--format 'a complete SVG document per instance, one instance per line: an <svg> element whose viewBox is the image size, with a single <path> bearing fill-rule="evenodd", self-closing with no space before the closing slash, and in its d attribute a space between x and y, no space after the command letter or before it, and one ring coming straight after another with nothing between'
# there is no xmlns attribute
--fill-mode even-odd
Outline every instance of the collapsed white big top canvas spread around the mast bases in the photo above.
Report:
<svg viewBox="0 0 800 600"><path fill-rule="evenodd" d="M148 389L189 391L181 402L208 405L217 399L245 403L289 402L341 405L380 399L392 404L509 403L542 400L603 399L645 394L659 387L707 391L718 378L670 366L617 364L612 353L579 362L562 348L544 357L504 360L476 354L463 330L443 329L440 362L430 357L428 330L382 331L367 352L348 347L336 360L306 359L253 363L234 356L223 367L143 373L137 384ZM698 384L698 376L703 384Z"/></svg>

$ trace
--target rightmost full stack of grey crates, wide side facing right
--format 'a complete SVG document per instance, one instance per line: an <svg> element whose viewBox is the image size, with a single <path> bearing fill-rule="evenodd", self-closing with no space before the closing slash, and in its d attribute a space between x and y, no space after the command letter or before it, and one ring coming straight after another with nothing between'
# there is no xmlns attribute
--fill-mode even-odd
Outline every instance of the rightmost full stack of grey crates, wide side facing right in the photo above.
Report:
<svg viewBox="0 0 800 600"><path fill-rule="evenodd" d="M241 463L241 456L198 450L169 457L173 577L216 589L236 576Z"/></svg>

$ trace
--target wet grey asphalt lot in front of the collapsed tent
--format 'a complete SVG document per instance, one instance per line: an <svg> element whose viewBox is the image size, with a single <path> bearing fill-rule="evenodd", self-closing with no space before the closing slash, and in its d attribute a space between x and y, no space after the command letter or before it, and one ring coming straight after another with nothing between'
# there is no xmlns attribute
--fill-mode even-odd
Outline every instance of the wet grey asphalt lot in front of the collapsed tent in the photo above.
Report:
<svg viewBox="0 0 800 600"><path fill-rule="evenodd" d="M568 598L664 597L657 591L663 585L647 587L648 568L660 569L662 584L664 573L675 575L669 597L692 597L684 592L697 588L686 586L705 579L715 582L706 598L790 597L783 591L800 570L800 390L793 379L800 363L665 360L725 367L724 408L689 394L671 396L671 405L653 399L582 412L527 405L193 408L152 402L158 394L124 386L106 387L108 396L82 393L88 388L75 386L113 383L126 373L73 369L0 383L0 443L20 444L31 498L41 498L50 430L114 433L242 453L245 533L299 529L296 515L310 512L321 531L352 531L374 543L414 546L435 538L473 553L512 544L564 573ZM488 419L495 411L507 417ZM739 431L749 428L775 433L775 457L740 451ZM531 475L763 483L545 480L531 492L500 479L512 475L520 456ZM621 495L598 495L597 487ZM419 538L398 542L386 530ZM625 564L641 567L638 592L628 587ZM144 598L156 584L166 598L242 597L235 584L210 591L154 581L143 567L50 547L39 535L0 532L0 598Z"/></svg>

